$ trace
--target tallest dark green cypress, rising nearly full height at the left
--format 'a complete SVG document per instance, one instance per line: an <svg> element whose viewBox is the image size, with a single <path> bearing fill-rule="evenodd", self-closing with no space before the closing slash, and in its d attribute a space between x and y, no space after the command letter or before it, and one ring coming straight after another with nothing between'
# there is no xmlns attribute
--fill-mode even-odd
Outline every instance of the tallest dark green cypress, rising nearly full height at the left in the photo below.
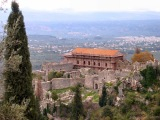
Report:
<svg viewBox="0 0 160 120"><path fill-rule="evenodd" d="M12 2L11 8L4 45L4 97L5 101L15 104L22 104L28 100L25 115L29 120L38 120L39 113L36 111L32 89L32 66L23 15L15 1Z"/></svg>

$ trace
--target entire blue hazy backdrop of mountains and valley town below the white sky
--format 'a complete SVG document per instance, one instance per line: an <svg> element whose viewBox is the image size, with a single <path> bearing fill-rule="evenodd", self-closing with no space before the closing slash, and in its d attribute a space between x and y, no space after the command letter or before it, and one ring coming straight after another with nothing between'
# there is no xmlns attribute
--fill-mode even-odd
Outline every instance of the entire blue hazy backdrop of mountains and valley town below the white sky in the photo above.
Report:
<svg viewBox="0 0 160 120"><path fill-rule="evenodd" d="M128 60L140 47L160 60L159 12L24 11L24 18L33 69L45 61L60 62L75 47L118 49Z"/></svg>

